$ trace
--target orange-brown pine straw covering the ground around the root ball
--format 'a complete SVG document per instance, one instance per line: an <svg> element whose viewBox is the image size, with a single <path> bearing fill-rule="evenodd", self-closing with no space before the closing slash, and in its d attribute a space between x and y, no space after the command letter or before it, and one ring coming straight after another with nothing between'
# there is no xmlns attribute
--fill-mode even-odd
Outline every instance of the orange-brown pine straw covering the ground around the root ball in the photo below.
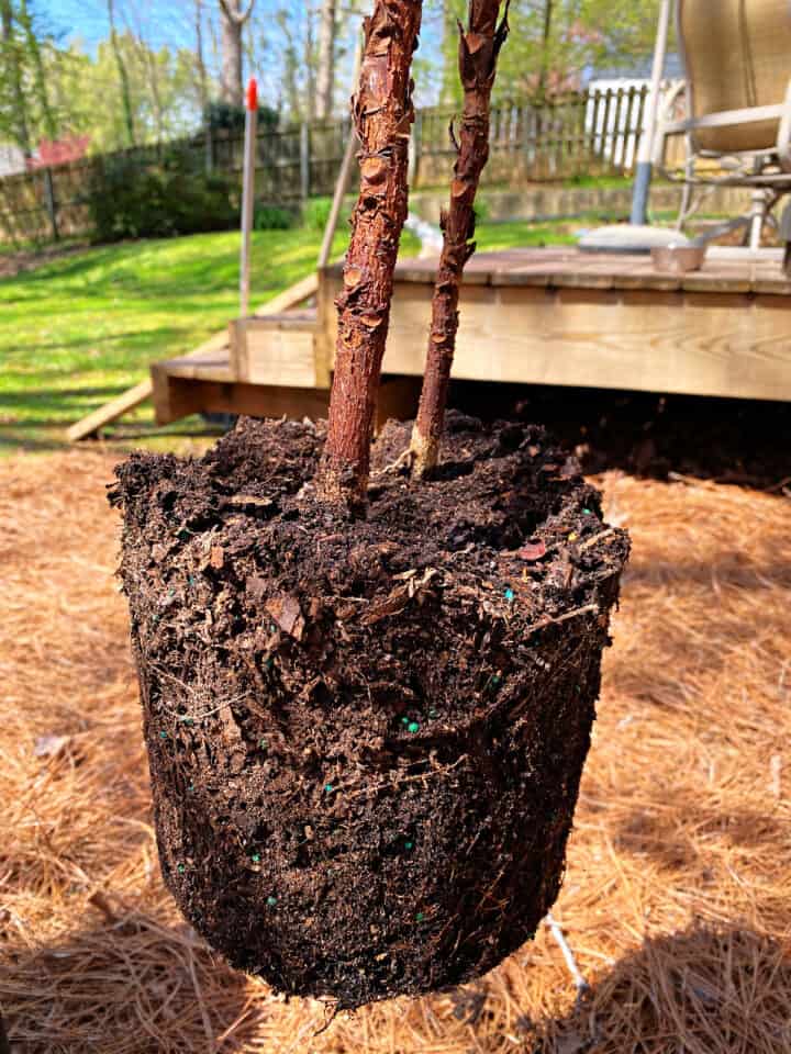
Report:
<svg viewBox="0 0 791 1054"><path fill-rule="evenodd" d="M0 463L0 1005L25 1052L791 1051L791 506L602 478L634 539L555 916L466 989L328 1020L229 971L165 894L111 459Z"/></svg>

